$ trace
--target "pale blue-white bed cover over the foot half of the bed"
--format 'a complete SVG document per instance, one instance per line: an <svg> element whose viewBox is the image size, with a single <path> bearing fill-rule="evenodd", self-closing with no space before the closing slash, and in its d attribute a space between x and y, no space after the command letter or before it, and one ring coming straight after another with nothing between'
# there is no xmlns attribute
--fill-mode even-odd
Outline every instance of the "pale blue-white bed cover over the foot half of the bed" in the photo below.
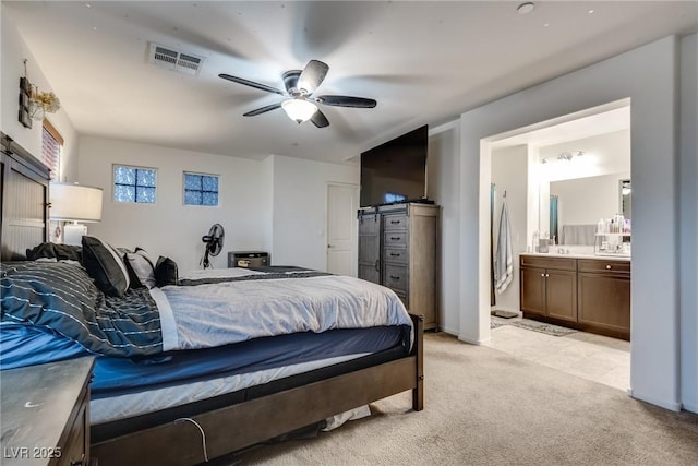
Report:
<svg viewBox="0 0 698 466"><path fill-rule="evenodd" d="M392 289L342 275L165 286L151 296L160 311L165 351L298 332L412 326Z"/></svg>

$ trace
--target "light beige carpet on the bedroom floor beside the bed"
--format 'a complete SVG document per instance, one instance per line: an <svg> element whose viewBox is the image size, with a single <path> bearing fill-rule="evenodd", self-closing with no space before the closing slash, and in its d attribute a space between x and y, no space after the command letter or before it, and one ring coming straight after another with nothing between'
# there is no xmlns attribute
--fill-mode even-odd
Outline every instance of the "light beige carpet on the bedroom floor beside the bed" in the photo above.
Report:
<svg viewBox="0 0 698 466"><path fill-rule="evenodd" d="M694 465L698 416L443 334L425 335L425 408L406 392L243 465Z"/></svg>

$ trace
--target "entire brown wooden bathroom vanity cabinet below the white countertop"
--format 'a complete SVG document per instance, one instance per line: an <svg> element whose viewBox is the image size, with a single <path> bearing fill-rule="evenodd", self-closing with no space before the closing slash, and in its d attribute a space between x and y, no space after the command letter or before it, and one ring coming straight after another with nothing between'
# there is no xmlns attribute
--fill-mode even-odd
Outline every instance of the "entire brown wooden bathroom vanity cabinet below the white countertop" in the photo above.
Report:
<svg viewBox="0 0 698 466"><path fill-rule="evenodd" d="M520 256L524 316L630 339L630 261Z"/></svg>

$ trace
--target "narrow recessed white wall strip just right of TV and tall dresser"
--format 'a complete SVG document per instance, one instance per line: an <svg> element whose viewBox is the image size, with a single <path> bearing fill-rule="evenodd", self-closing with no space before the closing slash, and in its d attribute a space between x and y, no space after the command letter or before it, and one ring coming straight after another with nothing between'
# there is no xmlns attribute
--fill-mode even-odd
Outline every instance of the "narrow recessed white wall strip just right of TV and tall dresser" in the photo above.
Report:
<svg viewBox="0 0 698 466"><path fill-rule="evenodd" d="M460 249L459 214L459 159L455 154L460 147L460 127L443 124L429 130L426 157L426 198L441 206L441 282L438 295L438 327L453 335L458 334L460 300L458 268Z"/></svg>

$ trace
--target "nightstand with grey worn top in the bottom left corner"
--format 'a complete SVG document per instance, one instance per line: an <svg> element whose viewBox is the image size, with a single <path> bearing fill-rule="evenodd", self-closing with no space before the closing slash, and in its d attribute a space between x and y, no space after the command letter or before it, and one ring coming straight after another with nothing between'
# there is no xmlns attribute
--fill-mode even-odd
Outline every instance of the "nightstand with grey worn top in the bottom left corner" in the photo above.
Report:
<svg viewBox="0 0 698 466"><path fill-rule="evenodd" d="M88 465L94 358L0 372L2 449L10 465Z"/></svg>

